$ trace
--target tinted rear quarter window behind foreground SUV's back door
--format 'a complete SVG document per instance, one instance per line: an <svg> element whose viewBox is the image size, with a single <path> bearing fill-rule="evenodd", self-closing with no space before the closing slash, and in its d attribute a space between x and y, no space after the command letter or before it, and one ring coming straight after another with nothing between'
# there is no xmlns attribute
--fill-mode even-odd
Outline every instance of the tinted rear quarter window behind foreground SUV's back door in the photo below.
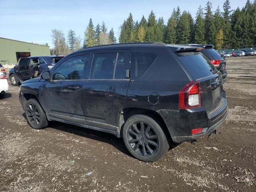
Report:
<svg viewBox="0 0 256 192"><path fill-rule="evenodd" d="M131 54L131 79L142 77L156 60L156 54L132 53Z"/></svg>

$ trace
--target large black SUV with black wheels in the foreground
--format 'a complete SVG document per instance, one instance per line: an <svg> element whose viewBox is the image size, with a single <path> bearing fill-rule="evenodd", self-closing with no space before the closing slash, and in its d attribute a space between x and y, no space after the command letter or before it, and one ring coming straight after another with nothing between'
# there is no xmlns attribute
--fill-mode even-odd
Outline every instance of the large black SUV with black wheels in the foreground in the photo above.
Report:
<svg viewBox="0 0 256 192"><path fill-rule="evenodd" d="M158 160L170 142L194 140L225 120L221 73L202 48L163 43L74 52L20 86L28 124L56 120L123 137L139 160Z"/></svg>

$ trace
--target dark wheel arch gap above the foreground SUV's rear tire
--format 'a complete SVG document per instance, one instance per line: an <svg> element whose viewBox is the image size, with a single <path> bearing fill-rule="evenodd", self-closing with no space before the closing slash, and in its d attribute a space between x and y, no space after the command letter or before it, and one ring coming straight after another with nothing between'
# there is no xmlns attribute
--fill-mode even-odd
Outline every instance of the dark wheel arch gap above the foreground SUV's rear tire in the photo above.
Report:
<svg viewBox="0 0 256 192"><path fill-rule="evenodd" d="M120 114L119 117L119 131L120 131L120 137L123 137L122 132L123 132L123 127L126 122L126 120L132 116L132 115L146 115L154 119L162 128L164 133L166 134L166 137L171 140L171 135L170 132L168 131L168 128L166 126L166 123L164 122L164 119L162 116L154 111L154 110L148 110L148 109L143 109L143 108L124 108Z"/></svg>

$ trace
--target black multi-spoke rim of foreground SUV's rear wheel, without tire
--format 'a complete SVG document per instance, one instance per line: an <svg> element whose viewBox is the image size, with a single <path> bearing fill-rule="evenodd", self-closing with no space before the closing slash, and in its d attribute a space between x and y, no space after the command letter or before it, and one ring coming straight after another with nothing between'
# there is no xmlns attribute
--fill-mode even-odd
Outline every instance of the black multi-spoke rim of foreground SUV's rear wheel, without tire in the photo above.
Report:
<svg viewBox="0 0 256 192"><path fill-rule="evenodd" d="M152 156L158 150L158 136L149 124L136 121L128 128L130 148L139 156Z"/></svg>

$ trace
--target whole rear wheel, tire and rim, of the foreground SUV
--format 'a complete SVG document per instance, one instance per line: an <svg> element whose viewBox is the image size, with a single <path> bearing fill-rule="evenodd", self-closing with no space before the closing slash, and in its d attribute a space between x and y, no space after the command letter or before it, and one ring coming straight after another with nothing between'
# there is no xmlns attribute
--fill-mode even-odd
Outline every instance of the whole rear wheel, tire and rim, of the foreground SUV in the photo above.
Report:
<svg viewBox="0 0 256 192"><path fill-rule="evenodd" d="M160 159L170 147L160 125L153 118L140 114L125 122L123 140L132 156L146 162Z"/></svg>

